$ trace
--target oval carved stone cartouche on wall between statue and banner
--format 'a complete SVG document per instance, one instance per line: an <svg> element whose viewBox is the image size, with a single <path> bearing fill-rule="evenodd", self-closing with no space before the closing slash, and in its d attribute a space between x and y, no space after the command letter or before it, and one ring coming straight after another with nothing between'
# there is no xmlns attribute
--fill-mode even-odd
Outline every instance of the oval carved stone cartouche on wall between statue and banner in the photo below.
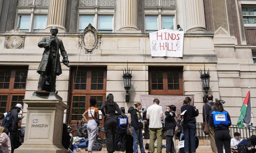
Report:
<svg viewBox="0 0 256 153"><path fill-rule="evenodd" d="M87 51L92 51L98 44L98 36L96 29L89 24L82 35L82 46Z"/></svg>

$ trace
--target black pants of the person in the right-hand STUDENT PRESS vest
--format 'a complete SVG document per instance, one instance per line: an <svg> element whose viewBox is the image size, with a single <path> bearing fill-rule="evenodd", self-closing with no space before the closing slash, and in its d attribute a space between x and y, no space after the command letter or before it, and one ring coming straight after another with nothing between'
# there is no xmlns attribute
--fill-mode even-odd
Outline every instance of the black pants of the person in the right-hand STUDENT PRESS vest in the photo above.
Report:
<svg viewBox="0 0 256 153"><path fill-rule="evenodd" d="M223 153L223 144L225 148L225 153L231 153L230 141L231 137L229 130L218 130L214 133L214 139L217 146L218 153Z"/></svg>

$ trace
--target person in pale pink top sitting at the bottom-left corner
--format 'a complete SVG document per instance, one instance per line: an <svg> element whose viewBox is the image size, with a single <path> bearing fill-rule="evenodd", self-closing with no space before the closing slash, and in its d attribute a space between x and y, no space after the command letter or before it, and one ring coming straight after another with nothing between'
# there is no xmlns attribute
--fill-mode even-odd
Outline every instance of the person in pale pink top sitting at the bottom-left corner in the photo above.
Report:
<svg viewBox="0 0 256 153"><path fill-rule="evenodd" d="M3 153L11 153L11 140L5 133L7 129L0 125L0 149Z"/></svg>

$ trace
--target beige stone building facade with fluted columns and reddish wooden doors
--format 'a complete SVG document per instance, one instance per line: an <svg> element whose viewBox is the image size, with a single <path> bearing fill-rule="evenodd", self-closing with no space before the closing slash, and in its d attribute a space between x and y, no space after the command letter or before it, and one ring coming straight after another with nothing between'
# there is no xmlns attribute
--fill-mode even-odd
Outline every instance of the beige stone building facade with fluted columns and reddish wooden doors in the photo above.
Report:
<svg viewBox="0 0 256 153"><path fill-rule="evenodd" d="M98 31L91 52L82 48L89 23ZM177 24L185 32L183 58L151 57L148 32L176 30ZM204 63L211 76L208 94L226 101L234 125L248 87L256 111L255 0L0 0L0 114L37 90L43 53L37 44L51 26L59 28L71 64L62 65L56 82L70 107L65 122L80 120L91 96L103 102L109 93L125 108L140 102L140 94L194 95L202 114L198 71ZM133 69L130 102L122 78L127 60Z"/></svg>

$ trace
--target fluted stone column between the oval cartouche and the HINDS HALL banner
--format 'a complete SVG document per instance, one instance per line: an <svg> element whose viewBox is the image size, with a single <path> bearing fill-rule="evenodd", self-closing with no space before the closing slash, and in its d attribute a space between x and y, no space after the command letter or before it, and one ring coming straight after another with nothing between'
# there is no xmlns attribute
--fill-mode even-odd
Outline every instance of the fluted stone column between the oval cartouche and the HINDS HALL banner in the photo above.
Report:
<svg viewBox="0 0 256 153"><path fill-rule="evenodd" d="M138 0L120 0L120 29L138 29Z"/></svg>

